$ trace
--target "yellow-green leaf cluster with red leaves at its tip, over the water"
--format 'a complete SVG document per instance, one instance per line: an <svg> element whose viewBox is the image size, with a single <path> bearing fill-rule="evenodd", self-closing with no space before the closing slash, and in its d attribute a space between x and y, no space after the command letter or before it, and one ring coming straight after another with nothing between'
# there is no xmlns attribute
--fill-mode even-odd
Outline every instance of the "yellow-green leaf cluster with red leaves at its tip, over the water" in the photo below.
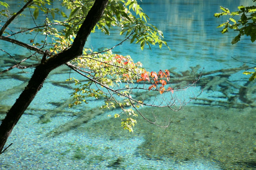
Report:
<svg viewBox="0 0 256 170"><path fill-rule="evenodd" d="M135 100L132 97L133 90L152 90L160 92L160 94L174 93L174 88L170 87L170 72L168 70L149 73L142 68L140 62L134 63L129 55L112 54L111 51L104 54L90 53L92 50L87 49L84 51L84 56L70 62L84 77L90 80L86 83L80 83L75 78L66 80L73 81L76 86L71 95L74 102L69 105L70 107L87 103L86 98L88 97L104 98L105 103L101 109L120 108L121 113L127 117L127 119L122 119L122 127L131 132L133 131L132 127L136 124L136 120L131 117L137 116L136 110L140 106L147 106L144 101ZM165 87L166 85L169 87ZM115 114L114 117L120 117L120 114Z"/></svg>

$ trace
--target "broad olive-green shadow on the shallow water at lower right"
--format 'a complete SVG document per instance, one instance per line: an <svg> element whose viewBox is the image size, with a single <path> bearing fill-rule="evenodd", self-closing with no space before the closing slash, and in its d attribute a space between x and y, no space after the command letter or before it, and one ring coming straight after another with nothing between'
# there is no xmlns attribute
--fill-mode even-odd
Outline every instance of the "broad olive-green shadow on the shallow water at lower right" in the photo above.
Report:
<svg viewBox="0 0 256 170"><path fill-rule="evenodd" d="M151 109L141 111L149 113ZM170 112L167 109L157 111L159 118ZM252 108L239 110L187 106L183 111L170 113L173 123L167 130L156 128L138 118L140 123L135 126L134 134L125 134L125 138L140 136L145 139L135 150L135 156L146 160L170 159L179 163L207 160L222 169L254 169L255 148L252 143L256 129L253 111ZM116 127L118 123L115 119L88 122L77 130L97 134L104 139L121 140L125 132ZM240 161L234 163L234 160Z"/></svg>

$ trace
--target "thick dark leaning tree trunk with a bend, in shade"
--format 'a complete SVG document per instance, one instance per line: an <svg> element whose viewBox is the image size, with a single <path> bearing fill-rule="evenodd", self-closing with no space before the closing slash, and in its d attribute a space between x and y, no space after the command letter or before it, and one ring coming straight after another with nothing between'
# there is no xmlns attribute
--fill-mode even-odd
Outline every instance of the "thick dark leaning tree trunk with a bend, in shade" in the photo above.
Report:
<svg viewBox="0 0 256 170"><path fill-rule="evenodd" d="M93 27L102 17L107 2L108 0L95 1L80 30L78 31L70 49L51 56L44 63L36 67L31 79L27 84L27 87L25 87L24 91L18 97L11 109L7 112L6 117L0 125L0 152L2 151L7 138L11 134L12 129L17 124L18 120L29 104L32 102L37 92L43 87L43 83L48 74L53 69L82 54L86 39L91 33Z"/></svg>

